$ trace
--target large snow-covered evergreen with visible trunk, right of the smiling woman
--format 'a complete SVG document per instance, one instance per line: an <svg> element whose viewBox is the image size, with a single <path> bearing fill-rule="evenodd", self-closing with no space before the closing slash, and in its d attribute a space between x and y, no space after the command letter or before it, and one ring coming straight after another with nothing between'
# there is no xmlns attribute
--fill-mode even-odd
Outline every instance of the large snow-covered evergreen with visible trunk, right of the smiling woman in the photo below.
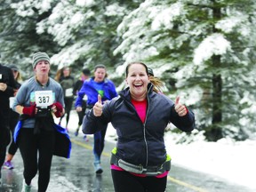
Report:
<svg viewBox="0 0 256 192"><path fill-rule="evenodd" d="M252 0L146 0L119 25L115 53L169 82L208 140L244 140L255 132L254 26Z"/></svg>

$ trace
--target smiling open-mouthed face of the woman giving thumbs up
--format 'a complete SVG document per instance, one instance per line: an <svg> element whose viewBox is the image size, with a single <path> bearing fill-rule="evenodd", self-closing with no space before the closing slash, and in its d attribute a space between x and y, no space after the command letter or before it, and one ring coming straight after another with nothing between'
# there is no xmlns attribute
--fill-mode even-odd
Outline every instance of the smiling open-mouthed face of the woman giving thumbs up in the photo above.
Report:
<svg viewBox="0 0 256 192"><path fill-rule="evenodd" d="M140 63L132 63L128 66L125 79L130 87L130 92L133 100L145 100L148 92L149 77L147 68Z"/></svg>

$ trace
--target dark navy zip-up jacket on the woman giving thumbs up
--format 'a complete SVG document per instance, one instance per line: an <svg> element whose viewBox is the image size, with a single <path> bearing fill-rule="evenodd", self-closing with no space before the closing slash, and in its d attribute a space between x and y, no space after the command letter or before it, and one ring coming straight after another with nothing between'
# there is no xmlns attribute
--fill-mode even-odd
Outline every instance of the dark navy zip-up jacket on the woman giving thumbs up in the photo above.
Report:
<svg viewBox="0 0 256 192"><path fill-rule="evenodd" d="M172 123L183 132L195 128L194 114L188 110L186 116L178 116L174 103L164 94L152 91L148 84L148 108L143 124L133 107L129 88L120 92L120 97L104 104L102 116L94 116L92 110L84 117L83 132L99 132L104 124L112 123L116 129L116 156L130 164L156 166L166 160L164 129Z"/></svg>

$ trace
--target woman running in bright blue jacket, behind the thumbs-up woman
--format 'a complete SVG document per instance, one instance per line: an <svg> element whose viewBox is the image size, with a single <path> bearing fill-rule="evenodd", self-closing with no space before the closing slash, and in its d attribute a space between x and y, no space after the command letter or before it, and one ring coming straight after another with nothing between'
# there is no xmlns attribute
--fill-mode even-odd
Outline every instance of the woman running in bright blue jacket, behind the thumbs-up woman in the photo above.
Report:
<svg viewBox="0 0 256 192"><path fill-rule="evenodd" d="M86 109L92 109L93 105L98 101L98 95L102 98L102 104L107 100L112 100L117 96L115 84L107 78L107 68L104 65L96 65L94 68L94 76L92 76L84 84L78 92L76 98L76 111L82 111L82 103L84 95L87 95ZM86 112L85 112L86 113ZM94 170L97 174L103 172L100 165L100 156L104 148L104 140L108 124L100 132L93 135L93 154L94 154Z"/></svg>

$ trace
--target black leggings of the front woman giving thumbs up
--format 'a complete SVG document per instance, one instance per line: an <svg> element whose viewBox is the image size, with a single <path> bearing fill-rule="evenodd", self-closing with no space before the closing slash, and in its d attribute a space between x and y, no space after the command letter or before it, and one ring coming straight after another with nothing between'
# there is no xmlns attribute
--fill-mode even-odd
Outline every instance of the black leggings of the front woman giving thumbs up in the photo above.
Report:
<svg viewBox="0 0 256 192"><path fill-rule="evenodd" d="M116 192L164 192L167 176L164 178L138 177L129 172L111 170Z"/></svg>

